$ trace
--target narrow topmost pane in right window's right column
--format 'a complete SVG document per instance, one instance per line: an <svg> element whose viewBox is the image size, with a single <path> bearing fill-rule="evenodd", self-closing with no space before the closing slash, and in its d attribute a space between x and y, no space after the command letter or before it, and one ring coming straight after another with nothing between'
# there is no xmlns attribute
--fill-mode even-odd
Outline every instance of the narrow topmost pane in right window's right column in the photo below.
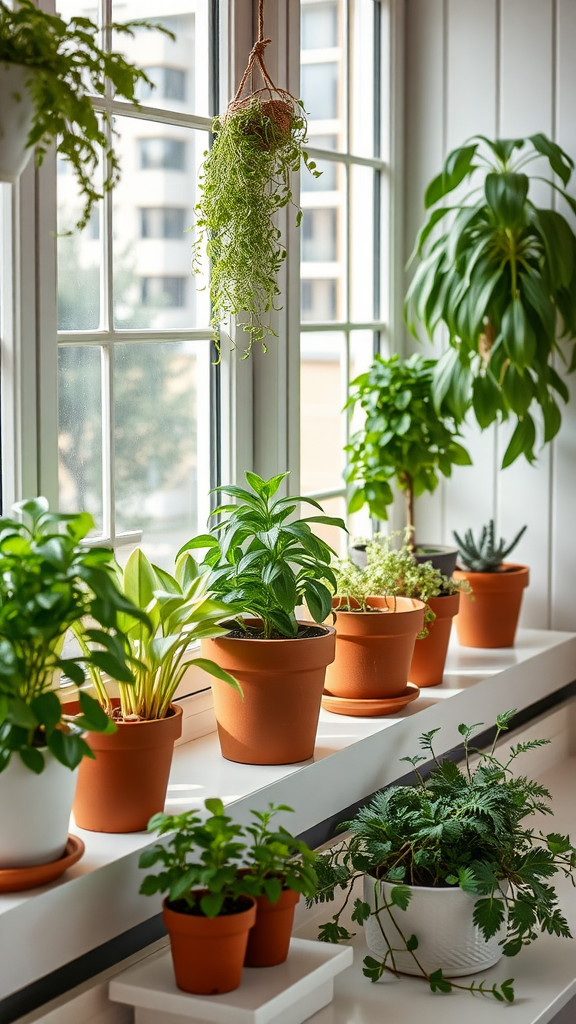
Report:
<svg viewBox="0 0 576 1024"><path fill-rule="evenodd" d="M375 14L374 0L353 0L351 153L361 157L376 155L374 102L378 83L374 59Z"/></svg>

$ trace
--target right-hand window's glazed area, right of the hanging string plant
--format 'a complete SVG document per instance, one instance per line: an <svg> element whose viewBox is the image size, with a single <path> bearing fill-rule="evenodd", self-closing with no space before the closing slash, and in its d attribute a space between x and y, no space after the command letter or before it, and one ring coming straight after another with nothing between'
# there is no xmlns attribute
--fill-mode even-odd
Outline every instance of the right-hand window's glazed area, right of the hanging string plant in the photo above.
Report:
<svg viewBox="0 0 576 1024"><path fill-rule="evenodd" d="M385 328L387 125L377 54L387 10L379 0L301 4L301 94L322 176L301 176L300 486L344 517L344 447L355 425L342 409ZM322 461L310 443L319 436ZM368 531L367 517L349 518L353 534ZM326 539L342 550L338 532Z"/></svg>

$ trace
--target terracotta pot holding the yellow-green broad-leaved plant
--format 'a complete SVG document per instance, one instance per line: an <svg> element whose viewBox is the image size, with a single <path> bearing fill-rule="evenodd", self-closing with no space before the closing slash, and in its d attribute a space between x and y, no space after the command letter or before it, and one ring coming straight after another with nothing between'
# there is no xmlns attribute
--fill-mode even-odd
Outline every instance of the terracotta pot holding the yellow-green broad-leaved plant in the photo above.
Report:
<svg viewBox="0 0 576 1024"><path fill-rule="evenodd" d="M113 700L115 707L119 702ZM119 722L110 736L84 735L95 760L84 758L80 764L73 806L80 828L142 831L152 815L164 810L174 741L182 731L182 710L170 707L166 718Z"/></svg>

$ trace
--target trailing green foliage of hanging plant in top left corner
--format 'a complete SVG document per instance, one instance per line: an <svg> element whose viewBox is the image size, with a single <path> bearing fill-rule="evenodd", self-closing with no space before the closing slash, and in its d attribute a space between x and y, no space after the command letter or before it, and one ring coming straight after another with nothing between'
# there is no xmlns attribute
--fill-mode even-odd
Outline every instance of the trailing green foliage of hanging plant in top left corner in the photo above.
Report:
<svg viewBox="0 0 576 1024"><path fill-rule="evenodd" d="M133 36L135 29L155 29L171 38L172 33L148 22L112 23L110 32ZM0 0L0 62L30 69L27 89L34 116L27 146L36 146L36 162L56 142L58 155L68 160L83 198L77 227L88 223L95 203L114 187L120 177L118 155L107 134L112 124L106 112L96 114L90 93L104 96L107 80L115 95L136 103L139 82L152 81L129 63L122 53L98 45L101 26L87 17L71 17L40 10L32 0L16 0L12 7ZM104 167L98 190L97 170Z"/></svg>

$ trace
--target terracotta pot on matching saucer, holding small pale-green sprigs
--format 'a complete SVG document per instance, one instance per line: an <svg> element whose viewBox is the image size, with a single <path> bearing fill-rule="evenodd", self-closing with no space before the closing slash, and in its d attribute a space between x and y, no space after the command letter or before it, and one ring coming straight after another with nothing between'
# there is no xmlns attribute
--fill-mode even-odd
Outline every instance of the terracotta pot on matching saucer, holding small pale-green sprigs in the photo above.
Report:
<svg viewBox="0 0 576 1024"><path fill-rule="evenodd" d="M336 659L326 672L326 693L375 700L406 690L424 604L412 597L370 597L383 611L336 610Z"/></svg>

